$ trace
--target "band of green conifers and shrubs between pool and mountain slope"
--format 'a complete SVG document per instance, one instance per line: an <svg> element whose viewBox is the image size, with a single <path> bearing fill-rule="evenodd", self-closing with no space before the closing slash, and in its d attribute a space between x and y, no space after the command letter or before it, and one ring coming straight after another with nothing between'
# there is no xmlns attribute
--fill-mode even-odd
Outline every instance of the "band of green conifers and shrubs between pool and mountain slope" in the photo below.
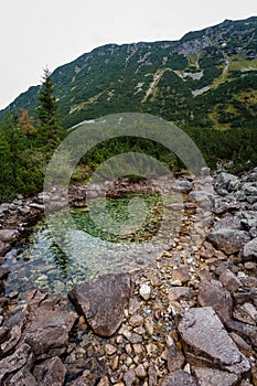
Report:
<svg viewBox="0 0 257 386"><path fill-rule="evenodd" d="M151 114L151 111L149 111ZM20 108L6 114L0 124L0 202L10 202L17 194L32 195L42 191L44 172L54 150L67 133L61 126L51 73L44 71L38 95L35 117ZM257 165L257 136L249 128L233 127L217 130L205 127L184 127L211 169L217 162L233 161L231 171L240 173ZM125 153L142 152L163 162L171 171L184 168L170 150L160 143L140 138L118 138L99 143L85 154L76 168L73 181L85 178L107 159ZM83 167L85 167L83 169Z"/></svg>

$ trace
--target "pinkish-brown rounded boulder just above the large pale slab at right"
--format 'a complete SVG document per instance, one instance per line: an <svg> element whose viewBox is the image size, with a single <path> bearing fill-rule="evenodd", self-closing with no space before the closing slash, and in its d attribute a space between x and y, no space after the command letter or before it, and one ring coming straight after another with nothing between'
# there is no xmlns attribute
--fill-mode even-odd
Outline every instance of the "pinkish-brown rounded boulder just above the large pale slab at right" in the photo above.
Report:
<svg viewBox="0 0 257 386"><path fill-rule="evenodd" d="M217 280L201 282L197 301L202 307L212 307L223 322L232 317L231 293Z"/></svg>

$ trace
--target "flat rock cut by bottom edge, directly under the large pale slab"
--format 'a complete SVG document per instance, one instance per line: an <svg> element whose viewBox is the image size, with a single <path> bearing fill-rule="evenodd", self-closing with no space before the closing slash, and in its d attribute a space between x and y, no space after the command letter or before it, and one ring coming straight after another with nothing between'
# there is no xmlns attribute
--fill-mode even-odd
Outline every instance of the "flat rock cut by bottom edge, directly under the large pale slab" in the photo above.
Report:
<svg viewBox="0 0 257 386"><path fill-rule="evenodd" d="M216 368L194 367L195 377L201 386L235 386L239 376Z"/></svg>

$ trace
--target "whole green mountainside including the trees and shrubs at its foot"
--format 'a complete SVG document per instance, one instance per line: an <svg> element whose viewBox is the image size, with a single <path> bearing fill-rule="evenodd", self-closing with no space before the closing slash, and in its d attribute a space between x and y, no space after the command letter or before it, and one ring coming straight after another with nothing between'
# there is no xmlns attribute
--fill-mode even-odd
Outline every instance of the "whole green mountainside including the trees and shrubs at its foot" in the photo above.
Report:
<svg viewBox="0 0 257 386"><path fill-rule="evenodd" d="M217 161L233 161L233 172L257 164L257 18L226 20L175 42L108 44L46 75L43 86L0 111L1 201L42 189L44 168L65 132L61 126L115 112L148 112L176 124L212 169ZM53 120L44 120L47 96ZM130 149L183 168L167 149L128 139L83 161L95 169Z"/></svg>

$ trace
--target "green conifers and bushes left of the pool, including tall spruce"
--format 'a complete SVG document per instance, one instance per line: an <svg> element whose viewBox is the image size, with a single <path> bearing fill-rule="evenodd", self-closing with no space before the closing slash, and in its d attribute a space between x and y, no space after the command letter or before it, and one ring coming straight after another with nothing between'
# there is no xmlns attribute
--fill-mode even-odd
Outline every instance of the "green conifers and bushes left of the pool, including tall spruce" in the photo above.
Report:
<svg viewBox="0 0 257 386"><path fill-rule="evenodd" d="M42 190L44 169L63 138L51 73L44 69L35 117L20 108L0 124L0 202Z"/></svg>

